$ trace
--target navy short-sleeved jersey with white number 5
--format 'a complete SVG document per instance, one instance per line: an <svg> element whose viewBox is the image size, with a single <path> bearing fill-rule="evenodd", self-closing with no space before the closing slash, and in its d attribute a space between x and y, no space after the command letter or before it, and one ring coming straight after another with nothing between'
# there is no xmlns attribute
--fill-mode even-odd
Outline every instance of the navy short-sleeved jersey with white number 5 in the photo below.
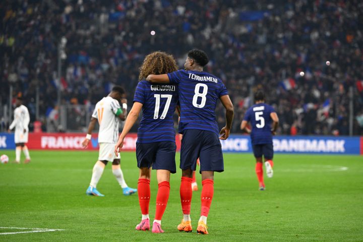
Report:
<svg viewBox="0 0 363 242"><path fill-rule="evenodd" d="M253 145L272 144L271 113L273 107L265 103L255 104L250 107L243 120L251 122L251 142Z"/></svg>

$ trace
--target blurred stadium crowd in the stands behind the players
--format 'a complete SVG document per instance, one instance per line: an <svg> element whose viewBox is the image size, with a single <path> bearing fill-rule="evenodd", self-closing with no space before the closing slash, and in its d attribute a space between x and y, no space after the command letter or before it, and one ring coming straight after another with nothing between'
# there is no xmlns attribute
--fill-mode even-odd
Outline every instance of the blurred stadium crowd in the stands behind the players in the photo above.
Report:
<svg viewBox="0 0 363 242"><path fill-rule="evenodd" d="M261 88L280 117L279 134L348 135L352 99L353 134L363 135L362 13L359 0L2 1L1 104L12 85L34 122L38 90L43 130L51 131L58 88L62 104L89 108L122 85L131 103L146 54L166 51L182 68L197 47L209 55L207 71L229 90L232 132L240 132L251 91ZM220 126L223 110L217 106Z"/></svg>

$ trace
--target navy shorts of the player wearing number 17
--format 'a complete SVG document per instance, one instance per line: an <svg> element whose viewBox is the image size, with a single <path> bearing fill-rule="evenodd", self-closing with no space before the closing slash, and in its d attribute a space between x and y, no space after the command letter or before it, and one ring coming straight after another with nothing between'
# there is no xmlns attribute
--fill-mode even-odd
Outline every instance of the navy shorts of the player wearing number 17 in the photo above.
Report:
<svg viewBox="0 0 363 242"><path fill-rule="evenodd" d="M138 167L152 167L153 170L170 170L171 173L175 173L175 150L176 145L172 141L136 142Z"/></svg>

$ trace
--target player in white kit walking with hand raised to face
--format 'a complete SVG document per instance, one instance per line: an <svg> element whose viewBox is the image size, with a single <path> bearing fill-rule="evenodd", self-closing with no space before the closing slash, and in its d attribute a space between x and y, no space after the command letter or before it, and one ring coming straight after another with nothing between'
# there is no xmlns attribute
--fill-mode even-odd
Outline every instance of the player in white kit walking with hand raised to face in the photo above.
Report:
<svg viewBox="0 0 363 242"><path fill-rule="evenodd" d="M118 184L122 187L124 195L131 195L137 192L137 189L127 186L124 174L120 168L119 153L117 156L114 154L114 146L118 140L118 119L125 120L127 114L127 104L124 96L124 88L119 86L113 87L107 97L97 102L92 113L88 133L82 142L82 146L84 148L88 146L92 131L98 120L99 156L96 164L93 166L91 183L86 191L87 195L104 197L103 194L97 191L96 186L108 161L112 162L112 173ZM119 102L123 103L123 108L121 108Z"/></svg>

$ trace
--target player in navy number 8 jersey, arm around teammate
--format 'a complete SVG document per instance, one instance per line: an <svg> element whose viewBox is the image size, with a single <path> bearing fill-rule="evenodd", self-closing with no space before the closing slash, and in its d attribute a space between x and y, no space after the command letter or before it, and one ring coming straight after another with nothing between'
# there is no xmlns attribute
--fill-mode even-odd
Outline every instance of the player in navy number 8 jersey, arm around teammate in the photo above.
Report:
<svg viewBox="0 0 363 242"><path fill-rule="evenodd" d="M223 82L203 68L208 64L206 53L199 49L188 52L184 64L185 70L163 75L149 75L151 83L170 83L177 85L180 102L179 133L183 134L180 151L181 209L183 220L178 225L179 231L192 231L191 200L192 175L196 169L197 158L200 159L202 173L201 217L197 232L208 234L207 216L214 193L214 171L222 172L223 155L219 139L225 140L233 120L233 105ZM218 132L215 108L221 100L226 109L226 126ZM218 133L220 138L218 138Z"/></svg>

